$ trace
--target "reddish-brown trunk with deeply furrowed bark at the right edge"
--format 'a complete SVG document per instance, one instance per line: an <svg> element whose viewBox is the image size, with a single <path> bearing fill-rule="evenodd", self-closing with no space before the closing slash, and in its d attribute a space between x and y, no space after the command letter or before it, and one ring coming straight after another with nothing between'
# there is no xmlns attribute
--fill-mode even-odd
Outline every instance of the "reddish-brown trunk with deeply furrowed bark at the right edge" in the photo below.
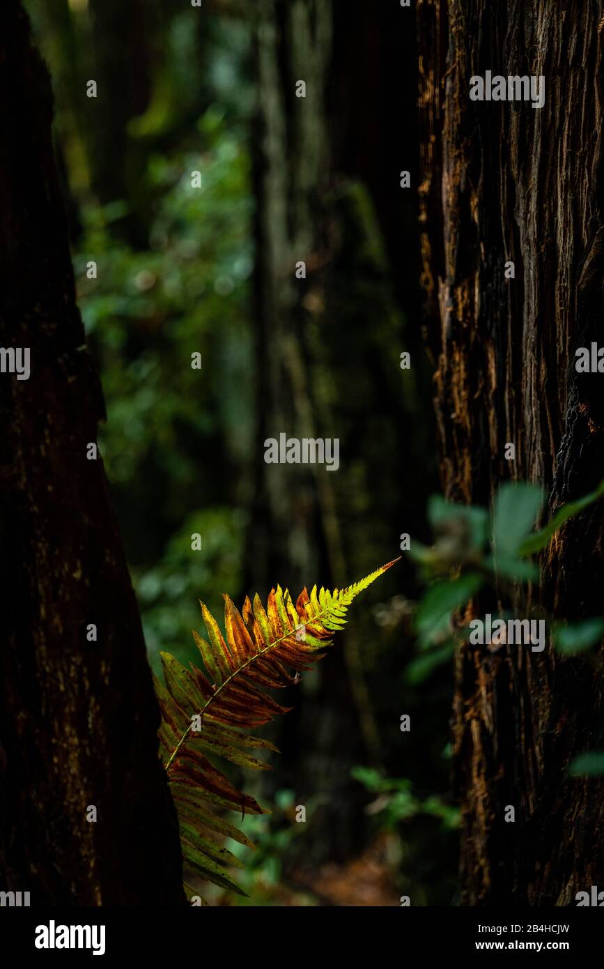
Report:
<svg viewBox="0 0 604 969"><path fill-rule="evenodd" d="M418 0L417 11L442 485L486 503L502 480L538 482L553 512L604 478L601 378L574 367L604 316L601 5ZM469 78L486 70L545 76L545 106L471 102ZM543 563L548 609L601 614L603 538L601 504L559 532ZM463 650L454 752L466 904L573 904L601 884L604 786L566 771L589 746L604 746L599 671L551 645L488 660Z"/></svg>

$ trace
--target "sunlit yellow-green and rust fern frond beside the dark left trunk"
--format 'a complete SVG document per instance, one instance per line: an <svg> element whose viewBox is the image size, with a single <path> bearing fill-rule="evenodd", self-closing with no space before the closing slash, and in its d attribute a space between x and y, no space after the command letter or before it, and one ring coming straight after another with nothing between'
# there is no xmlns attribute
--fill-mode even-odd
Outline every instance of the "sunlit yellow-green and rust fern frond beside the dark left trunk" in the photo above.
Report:
<svg viewBox="0 0 604 969"><path fill-rule="evenodd" d="M242 767L269 767L250 750L277 750L274 744L242 733L287 712L289 707L266 690L297 682L299 672L311 669L309 664L321 659L321 650L331 645L331 634L346 624L353 599L392 565L388 562L346 589L317 591L314 586L309 595L304 588L295 605L280 585L271 590L266 610L257 595L254 603L246 597L241 613L225 596L226 639L201 603L207 640L196 633L194 638L202 669L192 664L186 670L169 653L161 653L166 686L154 677L162 710L160 752L178 814L187 876L244 894L228 873L239 862L222 841L229 837L254 845L217 809L237 811L242 818L270 812L237 791L208 756ZM190 897L195 890L185 884Z"/></svg>

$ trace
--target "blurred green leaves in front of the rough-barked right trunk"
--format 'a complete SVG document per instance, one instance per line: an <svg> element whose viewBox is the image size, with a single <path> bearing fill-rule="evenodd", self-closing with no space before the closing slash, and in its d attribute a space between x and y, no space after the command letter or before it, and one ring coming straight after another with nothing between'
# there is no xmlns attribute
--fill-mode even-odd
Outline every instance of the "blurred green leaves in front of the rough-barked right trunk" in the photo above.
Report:
<svg viewBox="0 0 604 969"><path fill-rule="evenodd" d="M435 532L435 544L425 547L414 542L409 549L427 589L414 610L419 655L408 666L408 682L422 682L451 658L468 634L468 627L458 617L485 586L506 593L518 582L538 581L538 567L527 560L528 556L547 547L564 522L580 515L602 495L604 482L583 498L563 505L536 532L534 524L545 500L537 485L501 485L492 517L486 508L449 503L440 496L431 498L428 518ZM603 669L595 652L604 638L603 617L568 623L541 609L533 608L530 613L547 619L561 655L588 654L592 665ZM604 752L581 754L571 762L569 772L577 776L604 774Z"/></svg>

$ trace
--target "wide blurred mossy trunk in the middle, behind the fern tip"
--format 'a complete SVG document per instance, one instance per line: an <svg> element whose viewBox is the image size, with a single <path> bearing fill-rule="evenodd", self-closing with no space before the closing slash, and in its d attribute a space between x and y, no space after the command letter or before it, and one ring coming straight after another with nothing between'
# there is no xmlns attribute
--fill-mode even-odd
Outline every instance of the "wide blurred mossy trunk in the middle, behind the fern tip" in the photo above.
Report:
<svg viewBox="0 0 604 969"><path fill-rule="evenodd" d="M379 123L400 70L396 60L385 68L384 58L398 57L401 45L414 48L412 19L407 26L406 34L393 13L368 11L356 0L344 9L325 0L258 5L254 146L262 377L249 587L267 591L279 581L297 593L315 581L333 587L360 578L396 555L405 499L409 511L423 509L425 492L402 487L404 469L430 424L417 406L418 356L407 391L399 367L401 351L419 349L418 340L408 346L397 304L397 297L405 300L412 312L408 268L399 273L397 265L412 252L408 239L416 232L410 194L404 199L399 187L408 136L390 124L382 131ZM306 97L296 97L300 80ZM414 90L408 83L404 93L411 123ZM409 152L406 158L415 173L416 159ZM301 262L303 279L295 275ZM396 294L393 265L405 280ZM263 442L281 432L339 438L340 469L265 464ZM425 483L429 473L424 461L413 484ZM377 595L385 597L400 581L384 583ZM380 690L387 709L378 709L371 690L376 640L366 608L317 674L303 677L303 696L299 703L291 698L294 710L278 737L280 786L293 788L302 803L322 801L310 812L316 827L302 849L309 861L343 859L362 844L366 797L351 782L350 767L380 762L380 714L390 737L398 729L400 696ZM397 677L400 660L393 692Z"/></svg>

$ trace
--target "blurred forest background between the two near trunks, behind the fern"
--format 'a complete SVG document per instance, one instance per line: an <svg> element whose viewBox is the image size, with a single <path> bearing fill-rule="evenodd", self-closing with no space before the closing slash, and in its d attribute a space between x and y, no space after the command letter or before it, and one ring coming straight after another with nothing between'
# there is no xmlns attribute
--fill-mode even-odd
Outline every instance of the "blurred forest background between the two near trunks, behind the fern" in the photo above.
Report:
<svg viewBox="0 0 604 969"><path fill-rule="evenodd" d="M399 185L401 169L417 175L414 27L398 5L361 0L26 7L53 80L101 452L157 672L161 649L196 659L199 599L220 614L224 592L343 586L396 557L402 533L430 535L431 368L415 193ZM339 437L340 470L264 464L281 431ZM403 559L287 691L294 709L268 732L282 754L242 782L273 811L246 819L256 853L232 849L249 897L219 903L454 902L451 671L409 682L418 588Z"/></svg>

